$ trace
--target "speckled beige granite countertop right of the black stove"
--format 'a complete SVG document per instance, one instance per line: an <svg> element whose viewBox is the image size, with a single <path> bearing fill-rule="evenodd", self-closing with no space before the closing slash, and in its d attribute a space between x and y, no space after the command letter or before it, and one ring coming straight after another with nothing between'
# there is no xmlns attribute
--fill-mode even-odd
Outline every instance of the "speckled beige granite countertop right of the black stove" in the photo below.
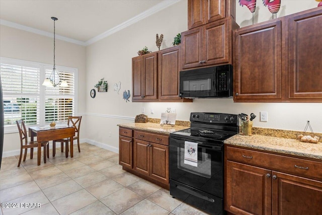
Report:
<svg viewBox="0 0 322 215"><path fill-rule="evenodd" d="M264 136L254 134L246 136L236 134L224 141L224 144L264 150L269 152L295 155L322 161L322 143L310 144L297 139Z"/></svg>

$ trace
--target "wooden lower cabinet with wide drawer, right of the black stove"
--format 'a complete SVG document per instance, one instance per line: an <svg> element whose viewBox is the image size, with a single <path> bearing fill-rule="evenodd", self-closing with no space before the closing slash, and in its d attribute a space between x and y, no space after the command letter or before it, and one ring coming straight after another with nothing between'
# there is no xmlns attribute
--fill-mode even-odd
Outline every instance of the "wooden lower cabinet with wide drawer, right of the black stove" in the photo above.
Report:
<svg viewBox="0 0 322 215"><path fill-rule="evenodd" d="M240 154L238 153L239 151ZM250 152L252 151L234 147L226 148L226 211L232 214L248 215L322 214L322 178L314 180L316 178L315 175L312 175L311 178L314 179L311 179L275 171L274 169L280 169L280 164L275 165L275 162L280 161L276 159L275 155L272 154L270 158L265 153L263 158L258 157L260 152L254 152L254 154ZM239 155L244 155L245 163L240 163L242 158ZM227 160L227 157L232 161ZM294 161L294 158L291 157L280 157L284 157L285 167L288 163ZM265 163L258 162L259 166L262 167L250 165L249 163L257 162L254 159L259 161L265 160ZM288 159L290 160L288 161ZM303 159L303 161L305 160ZM299 162L299 159L296 162ZM310 171L310 168L313 167L310 166L312 163L314 162L307 161L303 166L304 169L294 167L293 165L293 169L287 167L285 171L297 171L299 174L305 175L305 171ZM306 164L308 165L306 166ZM265 168L265 166L271 166L272 168ZM315 169L313 171L319 172L321 170Z"/></svg>

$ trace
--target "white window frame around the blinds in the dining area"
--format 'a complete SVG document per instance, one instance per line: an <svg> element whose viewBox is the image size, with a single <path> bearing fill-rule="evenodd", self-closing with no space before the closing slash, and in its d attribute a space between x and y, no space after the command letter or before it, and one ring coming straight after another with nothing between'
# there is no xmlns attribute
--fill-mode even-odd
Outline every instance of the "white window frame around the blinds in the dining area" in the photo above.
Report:
<svg viewBox="0 0 322 215"><path fill-rule="evenodd" d="M52 64L48 63L40 63L40 62L34 62L34 61L27 61L27 60L21 60L21 59L14 59L14 58L8 58L8 57L0 57L0 63L1 64L11 64L11 65L17 65L17 66L29 66L29 67L35 67L40 68L40 111L39 111L39 124L35 125L29 125L29 126L43 126L47 125L49 123L45 123L45 86L42 86L43 80L45 80L45 70L48 68L52 68ZM74 73L74 115L78 115L78 69L73 67L67 67L67 66L60 66L56 65L57 71L68 71L70 73ZM3 92L3 96L6 96ZM1 104L3 105L3 104ZM5 126L5 133L15 133L18 132L17 125L10 125Z"/></svg>

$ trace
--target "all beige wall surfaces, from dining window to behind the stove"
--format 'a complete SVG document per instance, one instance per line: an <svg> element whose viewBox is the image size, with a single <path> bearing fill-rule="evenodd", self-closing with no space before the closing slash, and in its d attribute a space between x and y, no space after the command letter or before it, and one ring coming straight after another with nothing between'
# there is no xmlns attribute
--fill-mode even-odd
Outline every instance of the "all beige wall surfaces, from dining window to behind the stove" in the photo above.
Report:
<svg viewBox="0 0 322 215"><path fill-rule="evenodd" d="M282 0L277 17L316 6L314 0ZM272 19L262 1L257 1L257 7L255 23ZM252 14L246 6L240 7L238 1L236 12L238 25L251 24ZM5 26L0 30L1 56L52 63L52 38ZM81 128L84 141L118 152L117 124L134 121L142 107L152 118L160 118L161 113L171 107L176 109L179 120L189 120L193 111L256 115L260 111L268 111L268 122L260 122L257 117L254 126L301 131L306 120L310 120L313 130L322 132L321 103L233 103L232 99L195 99L193 103L125 102L122 99L124 90L132 93L131 58L137 56L136 52L144 46L156 51L156 33L164 34L161 49L171 47L176 34L186 30L187 2L182 1L87 47L56 41L57 64L78 68L78 112L84 115ZM97 93L92 99L90 90L101 78L107 80L108 92ZM121 82L119 94L113 91L114 84L118 82ZM18 138L18 133L5 135L4 153L19 149L14 143Z"/></svg>

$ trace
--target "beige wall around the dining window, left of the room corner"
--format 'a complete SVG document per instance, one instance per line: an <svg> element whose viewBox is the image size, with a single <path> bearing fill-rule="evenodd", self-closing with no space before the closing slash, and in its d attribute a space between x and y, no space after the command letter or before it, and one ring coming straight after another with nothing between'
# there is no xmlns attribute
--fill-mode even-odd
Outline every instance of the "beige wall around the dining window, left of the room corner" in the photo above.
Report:
<svg viewBox="0 0 322 215"><path fill-rule="evenodd" d="M78 112L86 112L86 48L56 39L56 65L78 69ZM53 63L53 38L0 25L0 56ZM20 150L19 133L4 135L4 156ZM11 153L12 152L12 153Z"/></svg>

